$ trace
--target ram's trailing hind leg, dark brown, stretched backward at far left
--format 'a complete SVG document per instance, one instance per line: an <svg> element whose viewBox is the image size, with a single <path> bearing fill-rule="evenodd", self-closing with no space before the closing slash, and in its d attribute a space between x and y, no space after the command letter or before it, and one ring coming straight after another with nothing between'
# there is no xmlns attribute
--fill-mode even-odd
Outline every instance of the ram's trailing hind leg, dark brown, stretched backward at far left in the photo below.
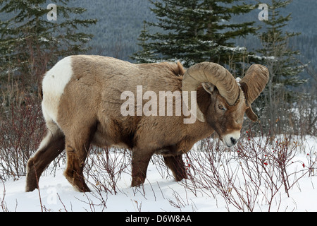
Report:
<svg viewBox="0 0 317 226"><path fill-rule="evenodd" d="M65 148L65 137L54 122L48 122L48 131L39 149L27 162L27 177L25 191L34 191L38 188L39 177L44 169Z"/></svg>

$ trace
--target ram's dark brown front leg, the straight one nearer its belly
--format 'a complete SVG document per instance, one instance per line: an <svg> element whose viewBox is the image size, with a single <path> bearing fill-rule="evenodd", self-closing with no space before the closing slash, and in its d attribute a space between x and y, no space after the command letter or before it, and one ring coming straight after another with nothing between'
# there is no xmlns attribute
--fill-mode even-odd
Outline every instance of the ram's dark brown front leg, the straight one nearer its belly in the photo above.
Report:
<svg viewBox="0 0 317 226"><path fill-rule="evenodd" d="M147 167L153 152L147 150L132 150L132 183L131 186L144 184L147 177Z"/></svg>

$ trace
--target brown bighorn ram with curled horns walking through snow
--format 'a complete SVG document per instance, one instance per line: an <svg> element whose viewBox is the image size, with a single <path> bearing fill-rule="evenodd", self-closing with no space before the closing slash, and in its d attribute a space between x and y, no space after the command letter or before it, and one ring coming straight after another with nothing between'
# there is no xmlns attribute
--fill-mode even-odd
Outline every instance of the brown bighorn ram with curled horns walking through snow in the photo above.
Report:
<svg viewBox="0 0 317 226"><path fill-rule="evenodd" d="M244 112L257 120L251 103L267 82L268 69L259 64L252 65L238 83L223 66L209 62L185 71L180 63L131 64L111 57L66 57L42 81L47 134L27 163L26 191L37 188L44 168L64 149L66 178L78 191L89 191L82 169L91 144L132 150L132 186L144 183L154 153L163 155L176 181L186 179L182 154L214 131L225 145L235 145ZM123 116L120 109L126 98L122 94L137 95L137 85L142 85L143 93L157 95L160 91L197 92L194 103L191 100L187 106L198 120L185 124L183 119L188 117L184 114ZM197 104L196 111L192 104Z"/></svg>

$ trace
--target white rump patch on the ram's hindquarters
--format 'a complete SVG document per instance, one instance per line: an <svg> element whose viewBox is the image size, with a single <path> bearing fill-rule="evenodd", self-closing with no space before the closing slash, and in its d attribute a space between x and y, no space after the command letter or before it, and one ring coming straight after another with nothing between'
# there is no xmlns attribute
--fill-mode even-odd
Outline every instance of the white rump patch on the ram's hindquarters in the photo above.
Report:
<svg viewBox="0 0 317 226"><path fill-rule="evenodd" d="M46 121L52 119L56 122L59 100L72 76L72 57L58 61L51 70L46 72L42 82L44 96L42 108Z"/></svg>

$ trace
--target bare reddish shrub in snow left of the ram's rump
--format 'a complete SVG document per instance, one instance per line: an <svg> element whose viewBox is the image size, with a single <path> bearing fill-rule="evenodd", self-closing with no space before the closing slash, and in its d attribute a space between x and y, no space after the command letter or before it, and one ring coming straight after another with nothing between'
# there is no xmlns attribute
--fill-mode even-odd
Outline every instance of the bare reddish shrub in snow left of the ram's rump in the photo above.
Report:
<svg viewBox="0 0 317 226"><path fill-rule="evenodd" d="M44 119L37 97L23 97L21 105L11 105L0 120L0 178L26 174L27 160L44 136Z"/></svg>

